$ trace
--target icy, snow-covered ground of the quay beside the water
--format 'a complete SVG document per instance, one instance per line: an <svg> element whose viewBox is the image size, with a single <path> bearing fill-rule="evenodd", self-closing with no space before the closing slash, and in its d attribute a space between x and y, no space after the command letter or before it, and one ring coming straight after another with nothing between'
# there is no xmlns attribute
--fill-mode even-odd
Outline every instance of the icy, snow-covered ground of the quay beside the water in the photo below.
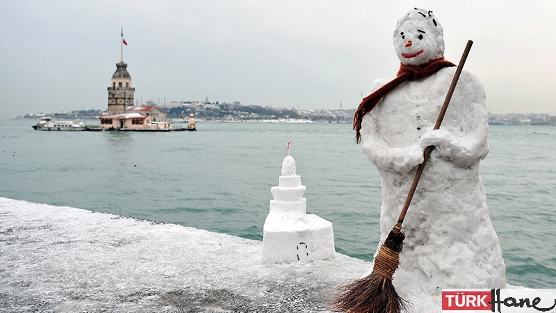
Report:
<svg viewBox="0 0 556 313"><path fill-rule="evenodd" d="M0 198L0 312L328 312L372 265L261 264L261 241Z"/></svg>

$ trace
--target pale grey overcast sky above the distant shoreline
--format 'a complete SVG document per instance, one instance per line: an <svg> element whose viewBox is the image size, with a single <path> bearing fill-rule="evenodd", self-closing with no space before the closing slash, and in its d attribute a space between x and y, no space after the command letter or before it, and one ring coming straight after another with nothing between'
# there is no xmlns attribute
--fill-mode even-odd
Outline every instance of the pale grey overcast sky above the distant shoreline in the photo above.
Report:
<svg viewBox="0 0 556 313"><path fill-rule="evenodd" d="M352 109L398 71L392 32L414 7L448 60L474 41L491 113L556 113L554 0L0 0L0 118L106 109L122 25L139 101Z"/></svg>

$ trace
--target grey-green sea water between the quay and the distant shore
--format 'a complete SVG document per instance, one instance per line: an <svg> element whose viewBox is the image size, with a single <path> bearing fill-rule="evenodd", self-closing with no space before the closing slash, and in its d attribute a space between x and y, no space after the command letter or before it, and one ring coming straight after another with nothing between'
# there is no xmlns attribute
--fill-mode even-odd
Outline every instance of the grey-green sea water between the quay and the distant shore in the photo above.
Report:
<svg viewBox="0 0 556 313"><path fill-rule="evenodd" d="M261 240L291 141L307 212L334 224L338 252L373 259L380 178L350 124L204 122L142 133L35 131L34 123L0 121L2 197ZM491 125L489 145L481 175L507 280L555 288L556 127Z"/></svg>

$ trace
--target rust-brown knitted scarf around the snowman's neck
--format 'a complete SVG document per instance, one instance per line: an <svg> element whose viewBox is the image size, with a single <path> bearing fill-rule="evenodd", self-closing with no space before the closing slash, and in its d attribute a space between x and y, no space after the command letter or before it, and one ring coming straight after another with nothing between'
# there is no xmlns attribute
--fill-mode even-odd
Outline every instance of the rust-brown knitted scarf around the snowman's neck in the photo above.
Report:
<svg viewBox="0 0 556 313"><path fill-rule="evenodd" d="M456 65L450 61L445 61L443 56L435 58L423 65L401 64L395 79L392 79L389 83L386 83L386 85L378 88L374 93L364 97L359 107L357 107L357 111L355 111L353 117L353 129L356 131L355 141L357 143L361 142L361 121L363 120L363 116L369 113L382 97L391 92L394 88L400 86L404 81L424 79L448 66Z"/></svg>

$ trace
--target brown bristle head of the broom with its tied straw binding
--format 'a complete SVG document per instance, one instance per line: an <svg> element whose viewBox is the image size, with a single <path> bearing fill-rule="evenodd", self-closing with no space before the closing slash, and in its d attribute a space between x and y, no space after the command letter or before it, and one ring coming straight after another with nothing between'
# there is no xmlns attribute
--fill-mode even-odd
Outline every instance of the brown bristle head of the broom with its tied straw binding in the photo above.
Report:
<svg viewBox="0 0 556 313"><path fill-rule="evenodd" d="M407 307L409 303L395 291L391 276L398 268L397 255L404 238L398 228L390 232L375 258L373 273L338 289L338 296L332 302L334 312L400 313Z"/></svg>

